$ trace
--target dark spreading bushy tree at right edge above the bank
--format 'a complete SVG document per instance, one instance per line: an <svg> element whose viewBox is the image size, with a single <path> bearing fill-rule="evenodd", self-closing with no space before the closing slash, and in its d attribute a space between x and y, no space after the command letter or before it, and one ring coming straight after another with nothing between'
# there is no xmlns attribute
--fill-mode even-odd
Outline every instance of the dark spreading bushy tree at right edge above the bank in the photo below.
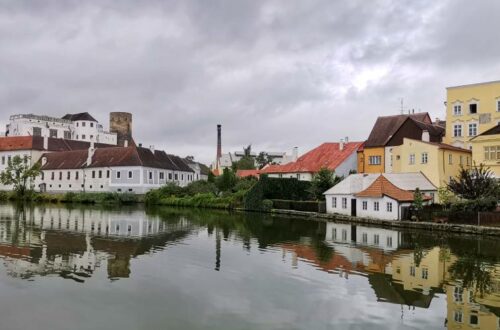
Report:
<svg viewBox="0 0 500 330"><path fill-rule="evenodd" d="M470 200L487 197L500 197L498 182L493 173L483 164L474 165L471 169L460 168L457 178L452 178L448 189L455 195Z"/></svg>

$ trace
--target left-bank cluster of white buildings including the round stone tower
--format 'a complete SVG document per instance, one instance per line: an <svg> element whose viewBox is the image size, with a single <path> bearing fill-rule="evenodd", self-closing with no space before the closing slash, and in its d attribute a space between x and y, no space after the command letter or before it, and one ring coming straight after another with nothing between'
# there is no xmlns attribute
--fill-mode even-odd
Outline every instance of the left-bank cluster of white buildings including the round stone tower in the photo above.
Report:
<svg viewBox="0 0 500 330"><path fill-rule="evenodd" d="M105 131L86 112L62 118L13 115L0 137L0 171L15 156L31 165L40 162L33 184L41 192L143 194L170 182L186 186L208 178L208 167L191 158L136 144L130 113L110 113L109 126Z"/></svg>

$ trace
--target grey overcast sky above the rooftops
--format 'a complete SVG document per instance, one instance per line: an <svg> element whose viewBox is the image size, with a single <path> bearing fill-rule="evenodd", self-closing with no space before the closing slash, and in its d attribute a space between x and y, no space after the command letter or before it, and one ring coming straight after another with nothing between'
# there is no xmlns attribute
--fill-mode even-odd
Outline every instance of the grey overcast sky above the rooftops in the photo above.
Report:
<svg viewBox="0 0 500 330"><path fill-rule="evenodd" d="M224 152L302 154L401 98L443 118L447 86L500 79L499 31L499 0L0 0L0 123L127 111L206 163L218 123Z"/></svg>

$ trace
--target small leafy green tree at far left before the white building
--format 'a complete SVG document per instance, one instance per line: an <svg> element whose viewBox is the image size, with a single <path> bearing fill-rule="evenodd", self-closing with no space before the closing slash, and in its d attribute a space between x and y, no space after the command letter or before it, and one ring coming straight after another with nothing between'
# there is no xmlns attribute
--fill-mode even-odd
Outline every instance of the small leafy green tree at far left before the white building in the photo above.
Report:
<svg viewBox="0 0 500 330"><path fill-rule="evenodd" d="M33 191L35 178L40 175L40 164L30 165L30 157L14 156L5 170L0 173L0 182L12 185L19 198L26 198Z"/></svg>

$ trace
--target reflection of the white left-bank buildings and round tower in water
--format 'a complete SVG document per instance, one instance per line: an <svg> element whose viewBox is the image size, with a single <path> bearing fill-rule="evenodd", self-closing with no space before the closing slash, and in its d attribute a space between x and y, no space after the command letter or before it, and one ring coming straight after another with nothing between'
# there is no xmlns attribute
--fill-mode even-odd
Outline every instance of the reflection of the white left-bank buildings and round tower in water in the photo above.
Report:
<svg viewBox="0 0 500 330"><path fill-rule="evenodd" d="M110 279L130 276L130 259L185 237L190 223L144 211L0 209L0 257L14 277L58 274L83 282L103 261Z"/></svg>

